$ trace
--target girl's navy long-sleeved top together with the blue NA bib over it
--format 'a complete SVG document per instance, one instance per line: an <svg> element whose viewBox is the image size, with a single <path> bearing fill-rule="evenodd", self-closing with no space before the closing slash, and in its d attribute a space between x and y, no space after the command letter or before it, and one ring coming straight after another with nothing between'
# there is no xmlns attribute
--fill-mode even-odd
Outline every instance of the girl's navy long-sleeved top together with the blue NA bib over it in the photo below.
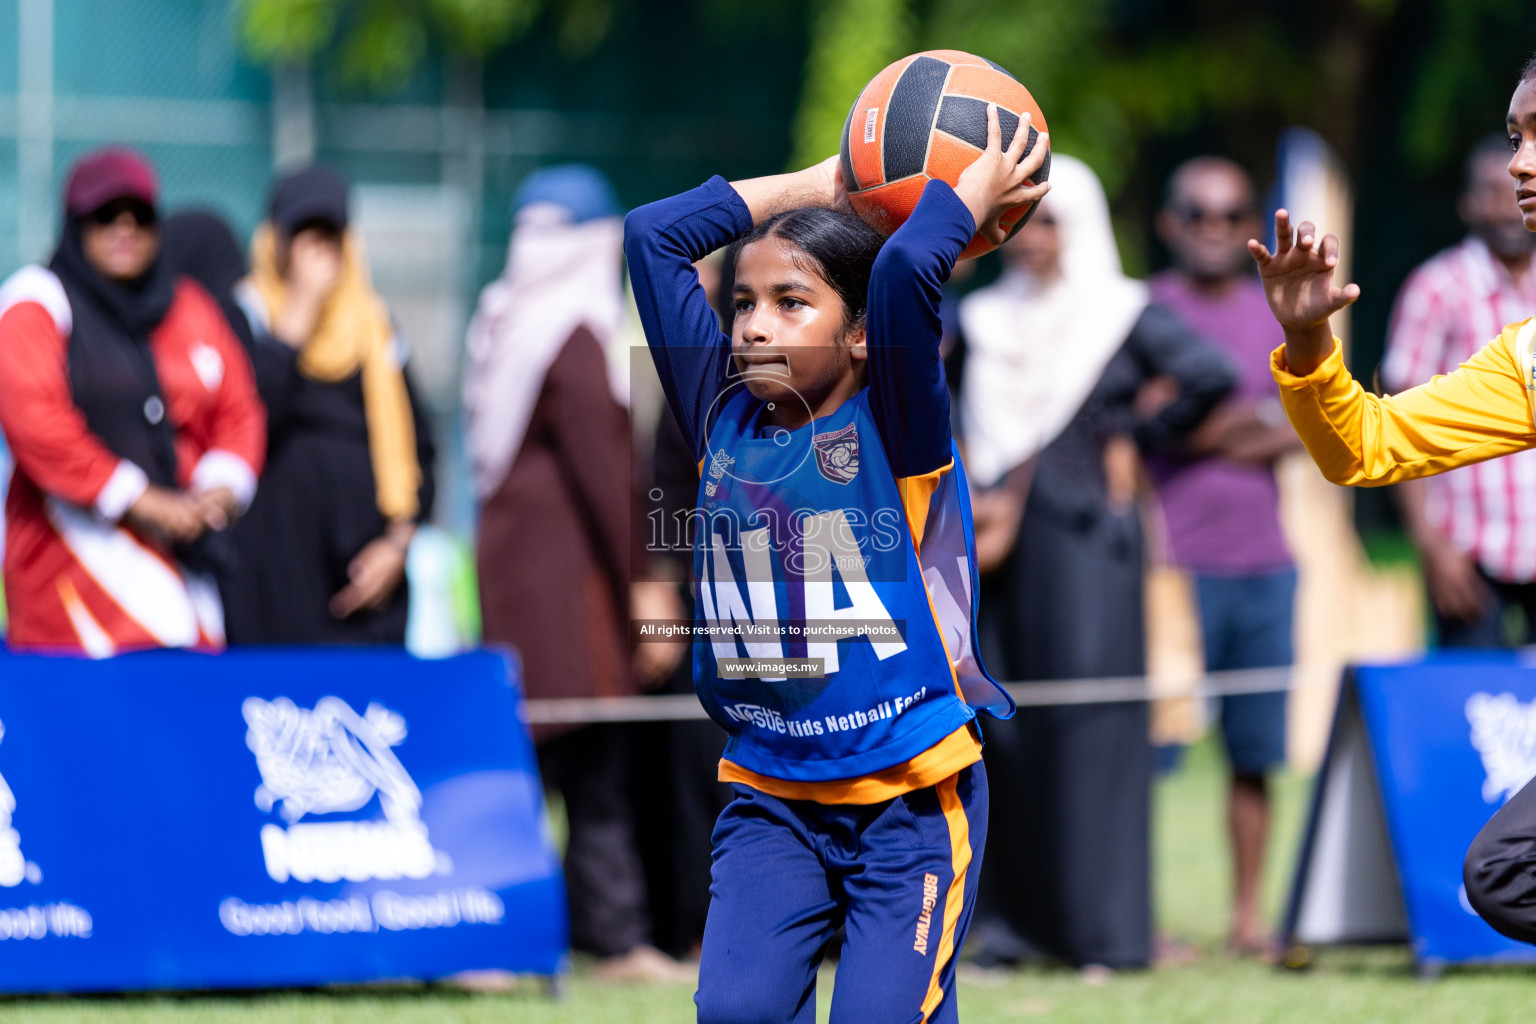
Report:
<svg viewBox="0 0 1536 1024"><path fill-rule="evenodd" d="M667 401L700 467L708 459L694 577L710 633L694 643L694 683L731 735L722 780L785 798L885 800L974 763L975 709L1012 712L974 645L975 556L938 358L942 289L975 224L948 184L926 187L871 269L868 387L771 438L754 425L756 399L727 393L731 342L693 269L748 230L746 204L720 178L625 221ZM862 625L857 636L819 642L809 639L819 616ZM766 620L803 631L733 633L733 623ZM891 636L885 626L902 639L879 639ZM739 643L750 657L805 654L825 676L725 674L719 659L739 657Z"/></svg>

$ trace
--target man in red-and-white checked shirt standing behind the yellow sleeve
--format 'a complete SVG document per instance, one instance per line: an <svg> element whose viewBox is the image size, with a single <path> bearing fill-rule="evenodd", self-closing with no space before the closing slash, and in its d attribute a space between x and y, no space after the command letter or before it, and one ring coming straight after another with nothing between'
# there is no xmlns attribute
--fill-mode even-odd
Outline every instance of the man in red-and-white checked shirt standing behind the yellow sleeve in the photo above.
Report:
<svg viewBox="0 0 1536 1024"><path fill-rule="evenodd" d="M1467 157L1458 212L1467 238L1404 281L1392 316L1381 382L1424 384L1471 358L1505 324L1536 309L1531 249L1505 166L1502 135ZM1502 646L1536 637L1536 451L1398 484L1404 527L1424 563L1442 646ZM1524 625L1504 636L1505 609Z"/></svg>

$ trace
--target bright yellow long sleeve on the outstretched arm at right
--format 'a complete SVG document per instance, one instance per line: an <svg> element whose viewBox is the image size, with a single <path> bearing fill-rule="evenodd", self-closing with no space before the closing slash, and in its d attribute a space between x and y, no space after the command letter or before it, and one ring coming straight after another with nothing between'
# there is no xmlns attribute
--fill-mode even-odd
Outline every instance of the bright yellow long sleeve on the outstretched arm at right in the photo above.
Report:
<svg viewBox="0 0 1536 1024"><path fill-rule="evenodd" d="M1527 324L1505 327L1455 373L1385 398L1369 395L1350 376L1336 339L1307 376L1289 372L1284 345L1270 356L1270 370L1286 415L1322 476L1379 487L1536 445L1518 355Z"/></svg>

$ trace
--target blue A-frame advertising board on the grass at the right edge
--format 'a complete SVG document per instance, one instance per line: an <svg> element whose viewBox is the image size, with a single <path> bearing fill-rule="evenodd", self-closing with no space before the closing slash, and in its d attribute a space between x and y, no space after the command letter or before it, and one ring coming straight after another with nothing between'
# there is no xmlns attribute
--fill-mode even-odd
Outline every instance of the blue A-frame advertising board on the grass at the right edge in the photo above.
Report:
<svg viewBox="0 0 1536 1024"><path fill-rule="evenodd" d="M1344 680L1286 938L1410 941L1442 964L1530 961L1473 912L1462 858L1536 775L1536 668L1514 652L1362 666Z"/></svg>

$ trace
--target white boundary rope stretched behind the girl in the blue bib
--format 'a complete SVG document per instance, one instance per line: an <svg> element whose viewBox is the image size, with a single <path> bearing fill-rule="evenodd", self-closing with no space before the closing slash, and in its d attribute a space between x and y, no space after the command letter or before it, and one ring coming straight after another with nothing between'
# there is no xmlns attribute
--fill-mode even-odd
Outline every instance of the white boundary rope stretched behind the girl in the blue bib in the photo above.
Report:
<svg viewBox="0 0 1536 1024"><path fill-rule="evenodd" d="M1111 676L1101 679L1052 679L1037 683L1003 683L1020 708L1061 708L1144 700L1235 697L1315 689L1338 683L1336 668L1284 666L1209 672L1195 677ZM528 700L522 705L528 725L588 725L596 722L694 722L708 718L693 694L653 697L582 697Z"/></svg>

